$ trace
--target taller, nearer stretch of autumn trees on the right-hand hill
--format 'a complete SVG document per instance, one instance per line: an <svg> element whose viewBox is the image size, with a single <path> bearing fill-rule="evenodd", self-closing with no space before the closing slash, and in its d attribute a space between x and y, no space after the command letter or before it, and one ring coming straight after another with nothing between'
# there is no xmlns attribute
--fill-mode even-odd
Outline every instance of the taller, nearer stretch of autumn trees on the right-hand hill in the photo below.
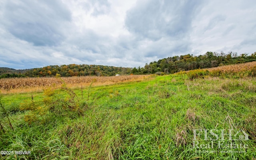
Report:
<svg viewBox="0 0 256 160"><path fill-rule="evenodd" d="M133 68L133 74L173 74L176 72L194 70L199 68L212 68L228 64L239 64L256 61L256 52L253 54L240 54L237 52L206 52L204 55L194 56L186 54L163 58L158 61L146 63L144 68Z"/></svg>

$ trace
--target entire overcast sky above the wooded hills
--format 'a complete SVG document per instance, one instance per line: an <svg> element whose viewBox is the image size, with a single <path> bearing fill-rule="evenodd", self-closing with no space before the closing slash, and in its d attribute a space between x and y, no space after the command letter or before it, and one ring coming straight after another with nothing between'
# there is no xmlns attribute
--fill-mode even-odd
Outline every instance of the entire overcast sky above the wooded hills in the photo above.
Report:
<svg viewBox="0 0 256 160"><path fill-rule="evenodd" d="M255 0L0 0L0 67L256 52Z"/></svg>

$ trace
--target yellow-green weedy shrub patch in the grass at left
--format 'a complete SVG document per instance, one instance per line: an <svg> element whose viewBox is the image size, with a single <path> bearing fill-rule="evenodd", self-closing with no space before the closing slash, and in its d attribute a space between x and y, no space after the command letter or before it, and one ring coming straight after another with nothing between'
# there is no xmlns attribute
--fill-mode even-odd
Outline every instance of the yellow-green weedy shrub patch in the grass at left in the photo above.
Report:
<svg viewBox="0 0 256 160"><path fill-rule="evenodd" d="M68 95L68 96L66 96ZM32 99L22 103L21 110L30 110L24 117L24 120L31 124L40 119L45 114L54 114L54 116L66 116L68 114L83 115L80 109L81 104L78 96L63 82L61 87L47 88L44 90L42 101L35 102Z"/></svg>

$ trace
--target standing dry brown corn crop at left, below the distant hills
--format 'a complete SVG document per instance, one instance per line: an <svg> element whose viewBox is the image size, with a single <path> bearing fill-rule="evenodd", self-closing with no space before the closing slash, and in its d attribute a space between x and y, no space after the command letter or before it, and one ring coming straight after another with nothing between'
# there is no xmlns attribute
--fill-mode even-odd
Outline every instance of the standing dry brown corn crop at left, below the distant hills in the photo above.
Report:
<svg viewBox="0 0 256 160"><path fill-rule="evenodd" d="M110 76L110 77L97 77L97 76L81 76L81 77L38 77L38 78L2 78L0 79L0 89L10 90L17 88L33 88L41 86L52 86L63 84L90 84L92 82L124 82L128 80L137 80L146 78L148 75L131 75L131 76Z"/></svg>

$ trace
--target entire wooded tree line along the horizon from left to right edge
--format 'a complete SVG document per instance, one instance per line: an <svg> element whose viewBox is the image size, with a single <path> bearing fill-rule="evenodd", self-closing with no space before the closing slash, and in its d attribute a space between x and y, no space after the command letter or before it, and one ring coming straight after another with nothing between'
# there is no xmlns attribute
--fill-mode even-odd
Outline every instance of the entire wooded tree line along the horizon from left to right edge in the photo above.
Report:
<svg viewBox="0 0 256 160"><path fill-rule="evenodd" d="M69 76L114 76L116 74L173 74L175 72L194 70L199 68L211 68L228 64L238 64L256 61L256 52L252 54L240 54L237 52L206 52L204 55L194 56L186 54L163 58L158 61L146 63L144 67L124 68L103 65L69 64L46 66L26 70L14 70L12 68L0 68L0 78L10 77L50 77L60 74Z"/></svg>

